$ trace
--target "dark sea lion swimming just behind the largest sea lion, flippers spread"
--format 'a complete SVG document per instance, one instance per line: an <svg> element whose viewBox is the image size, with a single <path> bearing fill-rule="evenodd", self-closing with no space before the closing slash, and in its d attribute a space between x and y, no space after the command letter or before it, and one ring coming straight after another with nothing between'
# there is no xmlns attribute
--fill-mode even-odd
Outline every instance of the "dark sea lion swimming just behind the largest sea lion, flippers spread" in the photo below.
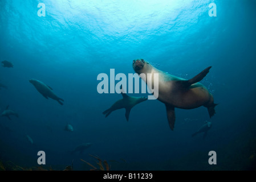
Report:
<svg viewBox="0 0 256 182"><path fill-rule="evenodd" d="M105 110L103 114L105 114L105 117L107 118L112 111L117 109L125 109L125 118L128 121L129 120L129 114L135 105L139 104L140 102L147 101L147 97L130 97L127 94L123 93L123 90L121 90L121 94L123 96L122 99L116 101L109 109Z"/></svg>

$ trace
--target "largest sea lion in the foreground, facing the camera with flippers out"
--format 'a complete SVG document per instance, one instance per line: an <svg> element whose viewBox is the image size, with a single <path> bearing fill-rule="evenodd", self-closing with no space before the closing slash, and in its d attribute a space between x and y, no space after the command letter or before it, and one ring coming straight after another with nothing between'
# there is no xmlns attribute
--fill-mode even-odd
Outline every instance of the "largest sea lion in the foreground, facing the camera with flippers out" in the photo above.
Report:
<svg viewBox="0 0 256 182"><path fill-rule="evenodd" d="M153 77L155 73L158 73L159 93L157 94L157 99L163 102L166 106L167 118L171 130L174 129L175 107L180 109L194 109L200 106L205 106L208 109L210 118L216 113L214 107L217 104L214 104L213 95L199 82L207 75L210 68L212 67L204 69L204 71L190 80L185 80L184 78L176 77L156 69L144 59L133 60L133 69L136 73L139 75L141 73L144 73L145 75L152 73L151 77L141 76L146 84L151 82L152 85L154 85L153 81L155 79L153 79Z"/></svg>

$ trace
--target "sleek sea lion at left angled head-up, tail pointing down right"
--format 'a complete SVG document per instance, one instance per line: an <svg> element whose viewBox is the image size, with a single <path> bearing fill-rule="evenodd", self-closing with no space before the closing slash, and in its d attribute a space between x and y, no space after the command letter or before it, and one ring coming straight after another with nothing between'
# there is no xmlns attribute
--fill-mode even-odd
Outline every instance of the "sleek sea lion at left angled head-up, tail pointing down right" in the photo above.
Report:
<svg viewBox="0 0 256 182"><path fill-rule="evenodd" d="M29 82L31 82L31 84L35 86L36 90L38 90L38 92L42 94L43 97L47 99L48 97L50 97L53 100L58 101L60 105L63 105L63 103L60 101L64 101L64 100L56 96L56 94L52 92L52 88L50 86L44 84L42 81L35 80L35 79L31 79L29 80Z"/></svg>

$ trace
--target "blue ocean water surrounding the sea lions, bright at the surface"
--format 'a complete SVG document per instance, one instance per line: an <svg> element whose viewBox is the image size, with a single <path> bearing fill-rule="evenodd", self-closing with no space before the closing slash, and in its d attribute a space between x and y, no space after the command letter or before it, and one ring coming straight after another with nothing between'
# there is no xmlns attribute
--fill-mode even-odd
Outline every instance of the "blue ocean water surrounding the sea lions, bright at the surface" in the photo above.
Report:
<svg viewBox="0 0 256 182"><path fill-rule="evenodd" d="M39 3L46 15L38 16ZM209 16L210 3L217 16ZM22 167L46 165L88 170L91 155L113 170L255 169L256 1L61 1L1 0L0 112L9 105L19 114L0 119L0 160ZM97 75L115 69L135 73L132 60L143 58L157 68L192 78L212 66L201 81L214 96L216 114L205 107L176 109L174 131L165 105L142 102L131 110L102 114L120 94L99 94ZM51 86L64 100L46 100L29 82ZM117 81L116 81L117 82ZM129 94L141 96L143 94ZM205 121L213 123L205 139L191 135ZM73 132L64 131L67 123ZM26 135L29 135L31 144ZM82 154L70 154L82 143ZM208 163L216 151L217 165Z"/></svg>

